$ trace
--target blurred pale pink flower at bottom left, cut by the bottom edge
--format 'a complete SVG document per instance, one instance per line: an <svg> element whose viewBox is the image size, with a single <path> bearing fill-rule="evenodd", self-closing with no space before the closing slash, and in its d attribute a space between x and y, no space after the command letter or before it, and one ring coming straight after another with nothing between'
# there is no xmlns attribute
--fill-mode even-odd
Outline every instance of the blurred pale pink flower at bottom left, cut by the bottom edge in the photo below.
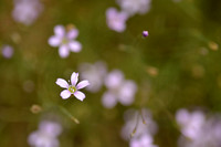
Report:
<svg viewBox="0 0 221 147"><path fill-rule="evenodd" d="M30 134L28 141L32 147L59 147L57 136L62 133L60 124L43 120L39 130Z"/></svg>

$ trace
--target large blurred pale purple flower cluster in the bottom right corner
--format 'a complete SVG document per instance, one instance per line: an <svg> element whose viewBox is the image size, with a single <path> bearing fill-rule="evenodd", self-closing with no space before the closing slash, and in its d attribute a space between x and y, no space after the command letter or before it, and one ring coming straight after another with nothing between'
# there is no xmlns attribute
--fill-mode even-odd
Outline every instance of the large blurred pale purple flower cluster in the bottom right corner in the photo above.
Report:
<svg viewBox="0 0 221 147"><path fill-rule="evenodd" d="M181 128L180 147L220 147L221 116L207 117L201 111L180 109L176 115Z"/></svg>

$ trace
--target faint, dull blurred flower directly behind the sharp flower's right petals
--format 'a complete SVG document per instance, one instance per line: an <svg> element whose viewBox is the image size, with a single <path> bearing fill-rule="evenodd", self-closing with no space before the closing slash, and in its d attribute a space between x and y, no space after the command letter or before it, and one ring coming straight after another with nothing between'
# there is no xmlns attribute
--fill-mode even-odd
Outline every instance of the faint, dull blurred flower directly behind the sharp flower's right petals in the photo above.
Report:
<svg viewBox="0 0 221 147"><path fill-rule="evenodd" d="M96 62L95 64L83 63L80 65L81 77L88 80L90 85L86 87L90 92L98 92L104 83L106 75L106 64Z"/></svg>

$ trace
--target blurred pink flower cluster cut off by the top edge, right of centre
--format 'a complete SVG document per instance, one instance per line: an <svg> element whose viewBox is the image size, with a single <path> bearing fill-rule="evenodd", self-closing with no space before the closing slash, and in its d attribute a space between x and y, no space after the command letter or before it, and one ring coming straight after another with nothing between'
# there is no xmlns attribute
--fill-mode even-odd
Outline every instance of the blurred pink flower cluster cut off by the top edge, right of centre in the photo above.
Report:
<svg viewBox="0 0 221 147"><path fill-rule="evenodd" d="M150 9L151 0L117 0L120 11L115 8L106 10L106 22L109 29L116 32L124 32L126 21L136 13L144 14Z"/></svg>

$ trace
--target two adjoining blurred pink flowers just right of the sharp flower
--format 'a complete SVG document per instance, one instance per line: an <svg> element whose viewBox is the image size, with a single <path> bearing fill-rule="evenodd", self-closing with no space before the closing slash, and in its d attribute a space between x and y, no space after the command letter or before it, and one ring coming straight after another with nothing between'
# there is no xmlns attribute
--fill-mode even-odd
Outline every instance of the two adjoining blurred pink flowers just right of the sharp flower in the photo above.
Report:
<svg viewBox="0 0 221 147"><path fill-rule="evenodd" d="M86 88L87 91L95 93L101 90L102 85L106 86L107 91L102 97L102 104L106 108L113 108L117 102L123 105L133 104L137 85L131 80L125 80L122 71L113 70L107 73L104 62L84 63L78 69L82 77L90 81L91 85Z"/></svg>

